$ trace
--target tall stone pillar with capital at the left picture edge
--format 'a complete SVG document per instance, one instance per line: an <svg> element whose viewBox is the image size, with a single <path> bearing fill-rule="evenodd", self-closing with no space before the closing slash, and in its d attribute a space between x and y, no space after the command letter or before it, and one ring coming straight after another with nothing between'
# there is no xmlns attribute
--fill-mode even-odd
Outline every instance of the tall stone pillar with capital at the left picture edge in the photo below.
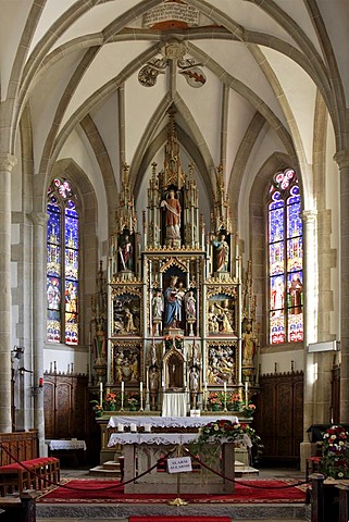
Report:
<svg viewBox="0 0 349 522"><path fill-rule="evenodd" d="M11 172L12 154L0 154L0 433L11 433Z"/></svg>

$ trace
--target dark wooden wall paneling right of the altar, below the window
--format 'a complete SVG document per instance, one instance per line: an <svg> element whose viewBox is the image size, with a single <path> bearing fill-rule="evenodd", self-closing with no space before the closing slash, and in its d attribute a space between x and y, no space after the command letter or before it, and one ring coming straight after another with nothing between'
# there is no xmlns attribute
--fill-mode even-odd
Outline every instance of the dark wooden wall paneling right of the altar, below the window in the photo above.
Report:
<svg viewBox="0 0 349 522"><path fill-rule="evenodd" d="M253 423L264 445L262 461L299 461L303 433L303 374L264 375Z"/></svg>

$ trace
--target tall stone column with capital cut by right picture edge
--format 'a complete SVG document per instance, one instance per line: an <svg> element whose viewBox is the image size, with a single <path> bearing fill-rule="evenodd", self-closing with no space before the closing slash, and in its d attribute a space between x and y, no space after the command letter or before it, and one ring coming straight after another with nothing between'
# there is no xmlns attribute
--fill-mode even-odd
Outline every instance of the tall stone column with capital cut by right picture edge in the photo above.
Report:
<svg viewBox="0 0 349 522"><path fill-rule="evenodd" d="M340 422L349 423L349 150L334 157L340 171Z"/></svg>

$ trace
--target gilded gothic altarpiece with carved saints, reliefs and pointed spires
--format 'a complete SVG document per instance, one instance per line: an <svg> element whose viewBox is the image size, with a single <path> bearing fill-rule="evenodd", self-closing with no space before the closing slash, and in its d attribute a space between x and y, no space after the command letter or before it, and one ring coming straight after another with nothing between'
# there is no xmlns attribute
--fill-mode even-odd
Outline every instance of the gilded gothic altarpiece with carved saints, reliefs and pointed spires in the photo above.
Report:
<svg viewBox="0 0 349 522"><path fill-rule="evenodd" d="M208 226L198 176L194 164L182 167L171 110L163 166L152 163L141 225L124 165L90 322L90 388L104 410L136 406L185 417L208 411L212 393L227 410L232 394L248 402L258 388L251 265L242 270L223 169L208 196Z"/></svg>

